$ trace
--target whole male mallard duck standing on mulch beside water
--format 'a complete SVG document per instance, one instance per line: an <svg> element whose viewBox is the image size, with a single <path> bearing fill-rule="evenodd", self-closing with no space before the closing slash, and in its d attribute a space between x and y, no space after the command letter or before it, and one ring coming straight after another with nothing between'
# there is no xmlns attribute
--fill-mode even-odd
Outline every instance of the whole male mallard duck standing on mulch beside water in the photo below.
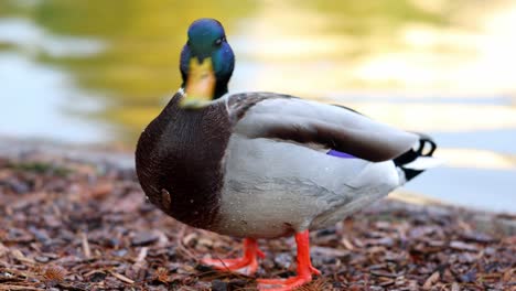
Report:
<svg viewBox="0 0 516 291"><path fill-rule="evenodd" d="M298 273L259 280L291 290L320 272L309 230L331 226L426 169L436 143L348 108L273 93L227 94L234 54L216 20L189 29L183 85L141 133L137 173L149 200L187 225L243 237L239 259L257 270L257 238L295 236ZM424 152L423 152L424 151Z"/></svg>

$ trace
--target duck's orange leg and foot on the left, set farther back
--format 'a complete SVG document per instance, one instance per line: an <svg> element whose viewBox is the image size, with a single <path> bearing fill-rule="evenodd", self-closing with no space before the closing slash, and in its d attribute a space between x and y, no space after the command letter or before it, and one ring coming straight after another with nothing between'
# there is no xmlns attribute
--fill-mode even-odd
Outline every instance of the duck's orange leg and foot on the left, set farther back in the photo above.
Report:
<svg viewBox="0 0 516 291"><path fill-rule="evenodd" d="M264 258L265 255L258 249L258 242L255 238L244 240L244 256L238 259L203 259L201 262L222 271L237 271L247 267L246 274L254 274L258 270L257 257Z"/></svg>

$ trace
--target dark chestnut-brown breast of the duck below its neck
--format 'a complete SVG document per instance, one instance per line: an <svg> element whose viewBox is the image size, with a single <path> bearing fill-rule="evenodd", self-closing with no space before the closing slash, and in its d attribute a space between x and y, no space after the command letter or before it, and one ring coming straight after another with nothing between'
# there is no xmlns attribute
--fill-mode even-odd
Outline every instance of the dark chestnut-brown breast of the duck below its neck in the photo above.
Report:
<svg viewBox="0 0 516 291"><path fill-rule="evenodd" d="M223 187L223 159L232 132L224 103L178 107L176 94L140 136L136 166L149 200L175 219L209 229Z"/></svg>

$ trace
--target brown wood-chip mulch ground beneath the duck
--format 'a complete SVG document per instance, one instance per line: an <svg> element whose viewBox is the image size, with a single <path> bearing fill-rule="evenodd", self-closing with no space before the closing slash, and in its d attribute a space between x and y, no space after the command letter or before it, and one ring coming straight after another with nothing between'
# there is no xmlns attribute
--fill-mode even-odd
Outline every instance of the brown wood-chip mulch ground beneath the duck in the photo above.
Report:
<svg viewBox="0 0 516 291"><path fill-rule="evenodd" d="M323 276L300 290L516 290L515 222L384 200L311 234ZM260 246L257 277L293 273L292 238ZM132 170L0 159L0 290L254 290L251 277L197 263L239 250L146 202Z"/></svg>

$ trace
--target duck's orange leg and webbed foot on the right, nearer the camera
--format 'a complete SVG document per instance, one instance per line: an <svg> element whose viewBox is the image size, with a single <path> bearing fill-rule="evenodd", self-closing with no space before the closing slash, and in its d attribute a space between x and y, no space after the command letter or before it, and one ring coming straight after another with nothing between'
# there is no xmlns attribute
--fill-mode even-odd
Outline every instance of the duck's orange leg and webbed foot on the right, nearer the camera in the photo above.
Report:
<svg viewBox="0 0 516 291"><path fill-rule="evenodd" d="M298 274L287 279L258 279L258 289L267 291L289 291L312 281L312 274L321 274L310 261L309 230L295 234L298 245ZM277 285L276 288L267 288Z"/></svg>

